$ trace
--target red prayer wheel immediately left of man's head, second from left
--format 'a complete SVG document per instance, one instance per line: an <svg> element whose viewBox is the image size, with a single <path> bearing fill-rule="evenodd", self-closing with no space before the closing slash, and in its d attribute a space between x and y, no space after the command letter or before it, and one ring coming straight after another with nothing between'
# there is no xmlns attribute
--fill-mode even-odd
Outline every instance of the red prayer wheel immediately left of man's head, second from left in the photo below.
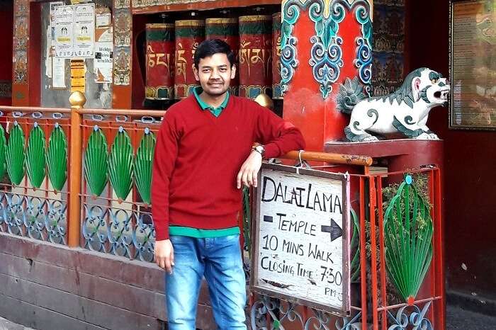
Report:
<svg viewBox="0 0 496 330"><path fill-rule="evenodd" d="M193 93L198 82L193 74L196 49L205 40L205 21L176 21L176 74L174 75L174 96L186 98Z"/></svg>

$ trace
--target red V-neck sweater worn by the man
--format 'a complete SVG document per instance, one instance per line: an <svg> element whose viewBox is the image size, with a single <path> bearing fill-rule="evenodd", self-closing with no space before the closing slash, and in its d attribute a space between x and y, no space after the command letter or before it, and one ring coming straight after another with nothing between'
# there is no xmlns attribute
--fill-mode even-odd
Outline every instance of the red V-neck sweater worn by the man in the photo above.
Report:
<svg viewBox="0 0 496 330"><path fill-rule="evenodd" d="M237 226L239 169L264 144L265 157L305 148L300 131L249 98L230 96L218 118L194 96L164 115L155 147L152 215L157 241L169 238L169 224L197 229Z"/></svg>

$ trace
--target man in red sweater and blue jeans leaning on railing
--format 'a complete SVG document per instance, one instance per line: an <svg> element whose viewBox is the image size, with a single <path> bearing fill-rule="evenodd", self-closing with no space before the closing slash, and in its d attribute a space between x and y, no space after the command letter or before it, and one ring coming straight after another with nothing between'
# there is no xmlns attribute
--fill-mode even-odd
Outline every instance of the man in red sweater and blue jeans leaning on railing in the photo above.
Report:
<svg viewBox="0 0 496 330"><path fill-rule="evenodd" d="M225 42L202 42L194 62L201 87L167 110L153 163L154 253L166 271L168 325L196 328L205 276L219 329L246 329L240 189L257 186L263 157L303 149L305 142L297 128L270 110L230 95L236 67ZM262 145L252 149L254 142Z"/></svg>

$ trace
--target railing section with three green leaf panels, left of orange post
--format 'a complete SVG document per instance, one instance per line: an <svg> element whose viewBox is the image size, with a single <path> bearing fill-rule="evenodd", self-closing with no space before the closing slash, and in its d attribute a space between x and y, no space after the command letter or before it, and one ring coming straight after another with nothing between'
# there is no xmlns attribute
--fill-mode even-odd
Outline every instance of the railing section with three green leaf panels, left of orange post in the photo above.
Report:
<svg viewBox="0 0 496 330"><path fill-rule="evenodd" d="M0 232L66 244L69 110L2 110Z"/></svg>

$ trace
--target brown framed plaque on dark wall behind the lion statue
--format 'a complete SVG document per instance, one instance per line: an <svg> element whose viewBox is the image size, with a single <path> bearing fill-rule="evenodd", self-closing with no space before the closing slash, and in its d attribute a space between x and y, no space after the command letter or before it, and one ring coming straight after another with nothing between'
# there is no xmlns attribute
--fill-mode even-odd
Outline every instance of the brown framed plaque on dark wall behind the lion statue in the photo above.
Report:
<svg viewBox="0 0 496 330"><path fill-rule="evenodd" d="M450 128L496 129L496 0L451 1Z"/></svg>

